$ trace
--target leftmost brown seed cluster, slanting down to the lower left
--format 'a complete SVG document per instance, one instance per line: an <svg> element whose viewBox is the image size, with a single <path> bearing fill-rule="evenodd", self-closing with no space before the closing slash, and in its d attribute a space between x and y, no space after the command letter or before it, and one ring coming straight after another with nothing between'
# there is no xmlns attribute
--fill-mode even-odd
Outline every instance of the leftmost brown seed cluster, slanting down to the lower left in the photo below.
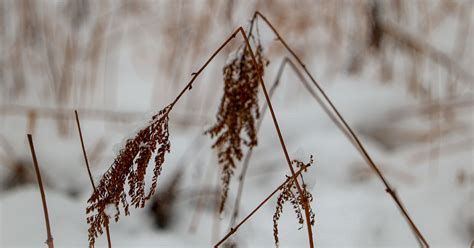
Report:
<svg viewBox="0 0 474 248"><path fill-rule="evenodd" d="M115 221L119 220L119 205L129 214L128 197L135 208L143 208L145 201L154 194L158 176L165 161L165 153L170 151L168 132L169 113L172 105L162 109L153 116L150 124L141 129L134 138L126 141L112 166L105 172L97 190L89 198L86 209L89 227L89 244L92 247L95 238L103 233L103 227L109 222L106 213L108 206L115 206ZM150 186L150 192L145 194L145 174L150 159L154 156L155 168ZM128 193L125 185L128 183Z"/></svg>

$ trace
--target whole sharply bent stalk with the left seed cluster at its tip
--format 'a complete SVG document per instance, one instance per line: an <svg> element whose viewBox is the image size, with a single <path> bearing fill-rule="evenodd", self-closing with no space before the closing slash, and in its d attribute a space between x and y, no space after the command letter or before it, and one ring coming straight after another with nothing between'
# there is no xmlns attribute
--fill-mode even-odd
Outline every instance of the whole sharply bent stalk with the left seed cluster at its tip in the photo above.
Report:
<svg viewBox="0 0 474 248"><path fill-rule="evenodd" d="M129 139L126 142L125 147L120 151L119 155L115 159L114 164L109 168L109 170L104 174L103 178L100 181L98 186L98 191L89 199L89 206L87 207L87 213L97 212L95 215L88 217L88 223L90 224L89 228L89 240L90 244L93 245L95 237L98 236L98 233L102 233L102 227L104 226L104 220L101 218L102 213L105 212L107 205L113 204L117 210L115 214L115 221L119 220L119 204L122 204L125 209L125 215L128 215L128 202L127 202L127 193L124 191L124 184L128 181L130 190L128 195L132 198L132 204L135 208L144 207L145 202L151 197L156 188L156 180L161 172L161 166L164 162L165 152L169 152L170 143L168 140L168 115L172 110L173 106L181 99L184 93L192 89L192 84L196 80L197 76L207 67L207 65L214 59L215 56L231 41L237 34L241 34L245 40L245 46L250 51L250 57L254 68L259 68L255 54L252 51L248 37L242 27L239 27L235 30L227 40L211 55L211 57L204 63L204 65L195 73L190 82L184 87L184 89L178 94L171 104L166 108L160 111L158 115L155 115L152 119L150 125L138 132L138 134L133 138ZM275 113L273 111L268 92L265 88L265 84L261 75L260 70L256 70L259 83L263 88L266 102L269 106L270 112L272 114L272 120L282 147L283 153L285 155L286 161L290 168L292 175L295 175L295 171L292 167L286 145L283 140ZM153 139L151 136L153 136ZM158 139L157 141L155 141ZM143 141L145 145L142 146ZM160 144L160 148L157 148L157 143ZM146 196L144 195L144 175L146 173L146 167L148 161L151 159L152 151L158 149L158 155L155 156L155 170L153 176L153 182L150 187L150 192ZM134 171L133 167L135 164L135 158L138 156L136 161L137 172ZM312 237L312 228L310 221L310 210L309 203L306 195L303 193L303 190L296 180L295 183L299 194L302 196L302 202L305 210L305 218L308 231L308 241L310 247L314 247L313 237Z"/></svg>

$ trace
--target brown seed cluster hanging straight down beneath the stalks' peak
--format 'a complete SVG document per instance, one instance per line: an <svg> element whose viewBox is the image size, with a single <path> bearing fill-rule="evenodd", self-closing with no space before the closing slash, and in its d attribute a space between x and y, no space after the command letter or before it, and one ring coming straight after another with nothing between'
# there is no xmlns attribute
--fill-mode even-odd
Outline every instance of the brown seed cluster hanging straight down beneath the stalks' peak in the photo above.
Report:
<svg viewBox="0 0 474 248"><path fill-rule="evenodd" d="M217 149L218 161L222 166L220 212L224 210L236 161L240 161L243 156L242 145L257 145L255 120L260 115L257 70L263 76L264 67L268 64L260 45L255 51L258 68L252 62L251 51L246 46L240 49L244 49L243 54L224 67L224 95L217 113L217 122L205 132L215 138L212 148ZM247 139L242 137L242 132L246 133Z"/></svg>

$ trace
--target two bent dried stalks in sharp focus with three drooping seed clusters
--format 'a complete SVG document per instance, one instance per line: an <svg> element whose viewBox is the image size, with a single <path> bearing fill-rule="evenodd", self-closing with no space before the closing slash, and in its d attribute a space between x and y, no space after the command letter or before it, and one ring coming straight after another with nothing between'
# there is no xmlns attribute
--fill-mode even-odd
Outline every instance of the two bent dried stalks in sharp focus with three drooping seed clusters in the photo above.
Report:
<svg viewBox="0 0 474 248"><path fill-rule="evenodd" d="M326 106L324 107L325 110L330 113L330 116L333 116L333 121L336 123L336 125L348 136L350 141L356 146L357 150L361 152L363 157L366 159L368 165L379 176L385 185L387 193L389 193L396 205L399 207L404 218L410 224L410 227L412 228L420 244L422 246L428 247L429 245L427 241L424 239L423 235L408 215L401 203L401 200L395 191L390 187L387 180L378 169L378 166L373 162L370 155L365 150L357 135L341 116L320 85L309 73L305 64L287 45L285 40L276 31L275 27L260 12L256 12L253 16L249 34L252 34L254 22L257 20L257 18L267 24L271 31L273 31L273 33L277 36L277 40L292 55L292 57L302 68L303 72L310 78L313 86L316 87L316 89L321 94L322 99L324 99L324 104L322 105ZM207 67L207 65L216 57L216 55L239 34L244 38L245 50L240 58L233 60L224 69L225 90L221 101L221 106L219 108L219 113L217 115L217 124L207 131L212 137L217 137L217 141L215 141L213 148L218 150L219 163L223 165L223 189L224 191L228 190L228 181L230 180L230 177L233 174L233 168L235 167L234 160L240 160L243 156L241 145L244 144L251 149L257 144L255 119L258 118L259 113L258 105L256 104L256 86L258 80L258 83L262 87L266 103L268 104L268 109L271 113L272 121L280 141L283 155L291 171L290 178L292 178L291 183L288 183L288 180L290 180L290 178L288 178L287 181L277 189L277 191L282 190L282 193L277 201L277 209L274 216L275 243L278 245L277 222L282 211L283 203L290 201L290 203L295 208L295 212L297 213L298 222L301 224L304 222L306 223L308 231L308 243L310 247L314 247L312 233L314 214L310 207L310 200L312 199L312 196L306 190L306 185L303 178L301 177L301 181L298 180L297 172L293 166L293 163L295 163L297 168L300 168L298 173L301 170L306 170L307 166L301 162L291 162L275 112L272 107L269 93L266 90L263 81L262 73L265 60L263 57L261 57L261 55L258 55L260 46L257 46L256 53L253 52L248 38L249 36L247 36L247 33L242 27L239 27L229 36L229 38L204 63L199 71L193 73L191 81L184 87L184 89L178 94L171 104L161 110L157 115L153 116L149 126L140 130L134 138L127 140L124 148L120 151L119 155L115 159L115 162L101 179L97 191L95 191L89 199L90 205L87 208L87 212L88 214L92 214L92 216L88 217L88 222L91 225L89 229L89 239L91 246L93 246L97 235L102 233L102 227L106 224L106 220L104 220L103 216L106 216L105 211L108 205L115 206L117 210L115 214L115 221L118 221L120 215L120 204L124 208L125 214L127 215L129 213L127 197L131 198L131 204L135 208L144 207L145 202L150 199L155 191L156 181L160 175L161 168L164 163L165 153L170 151L168 120L173 106L179 101L179 99L181 99L186 91L192 89L193 83L197 76ZM245 83L245 85L243 85L243 83ZM232 130L229 130L230 128L232 128ZM241 136L242 130L245 130L249 140L245 140ZM145 173L148 162L152 158L154 158L155 161L154 175L152 184L150 186L150 192L145 194ZM129 186L128 192L125 190L125 185L127 182ZM293 189L295 190L294 192L292 191ZM269 198L275 193L276 192L272 193ZM226 193L223 193L221 198L220 211L222 211L222 206L226 199L225 194ZM246 220L248 220L253 213L255 213L263 204L265 204L266 201L268 201L269 198L265 199L259 206L257 206L257 208L255 208L254 211L252 211L252 213L236 227L232 227L229 233L216 244L216 247L222 244L233 233L235 233L237 228Z"/></svg>

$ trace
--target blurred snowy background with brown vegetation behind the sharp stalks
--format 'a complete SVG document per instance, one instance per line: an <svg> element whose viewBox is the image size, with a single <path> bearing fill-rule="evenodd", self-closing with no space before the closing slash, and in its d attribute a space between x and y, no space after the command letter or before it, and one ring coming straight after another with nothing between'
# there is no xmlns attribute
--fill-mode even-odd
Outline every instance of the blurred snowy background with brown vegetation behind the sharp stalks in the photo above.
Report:
<svg viewBox="0 0 474 248"><path fill-rule="evenodd" d="M56 246L86 246L92 189L74 109L98 181L117 144L168 105L255 10L301 56L428 242L468 247L474 239L471 0L0 0L0 246L38 247L46 239L27 133L35 140ZM290 55L268 26L257 24L271 85ZM222 68L241 42L224 49L173 110L158 198L111 224L114 247L209 247L229 230L241 166L219 216L219 167L203 131L215 121ZM418 246L383 184L293 71L283 72L272 101L290 156L315 159L305 180L314 196L317 246ZM265 116L240 218L285 175ZM274 246L275 201L228 246ZM285 206L281 246L306 246L306 231L298 228ZM97 246L106 244L99 238Z"/></svg>

